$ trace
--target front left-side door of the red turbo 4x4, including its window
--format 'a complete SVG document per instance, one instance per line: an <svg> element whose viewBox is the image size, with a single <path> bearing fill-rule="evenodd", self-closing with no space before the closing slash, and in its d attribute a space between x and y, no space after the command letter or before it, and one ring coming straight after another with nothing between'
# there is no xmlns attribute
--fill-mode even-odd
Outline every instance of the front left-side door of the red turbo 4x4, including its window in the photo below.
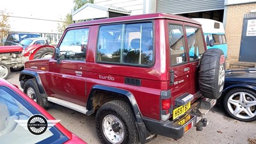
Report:
<svg viewBox="0 0 256 144"><path fill-rule="evenodd" d="M51 96L81 106L86 104L86 47L89 28L68 29L60 47L60 63L49 61Z"/></svg>

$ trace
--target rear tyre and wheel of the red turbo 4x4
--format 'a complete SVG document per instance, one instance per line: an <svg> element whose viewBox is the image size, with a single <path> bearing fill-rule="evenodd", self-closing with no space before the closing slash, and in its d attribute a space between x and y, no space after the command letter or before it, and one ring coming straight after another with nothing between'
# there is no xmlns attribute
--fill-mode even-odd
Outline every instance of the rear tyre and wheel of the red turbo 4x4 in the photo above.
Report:
<svg viewBox="0 0 256 144"><path fill-rule="evenodd" d="M127 102L113 100L103 104L96 115L96 130L102 143L138 143L135 118Z"/></svg>

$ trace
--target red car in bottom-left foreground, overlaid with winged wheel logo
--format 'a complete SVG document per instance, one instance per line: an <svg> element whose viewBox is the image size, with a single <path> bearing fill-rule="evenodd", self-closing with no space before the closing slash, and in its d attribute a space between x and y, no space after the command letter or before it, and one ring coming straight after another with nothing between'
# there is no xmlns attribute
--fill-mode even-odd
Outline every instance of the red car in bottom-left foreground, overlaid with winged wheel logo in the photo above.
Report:
<svg viewBox="0 0 256 144"><path fill-rule="evenodd" d="M2 78L0 109L1 143L85 143Z"/></svg>

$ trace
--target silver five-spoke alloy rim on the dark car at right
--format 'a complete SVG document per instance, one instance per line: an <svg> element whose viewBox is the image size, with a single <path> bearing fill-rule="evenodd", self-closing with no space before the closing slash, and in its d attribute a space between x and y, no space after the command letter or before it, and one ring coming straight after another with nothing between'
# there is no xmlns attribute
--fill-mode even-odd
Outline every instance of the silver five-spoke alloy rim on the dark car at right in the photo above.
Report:
<svg viewBox="0 0 256 144"><path fill-rule="evenodd" d="M256 115L256 98L250 93L237 92L228 98L228 110L237 118L249 119Z"/></svg>

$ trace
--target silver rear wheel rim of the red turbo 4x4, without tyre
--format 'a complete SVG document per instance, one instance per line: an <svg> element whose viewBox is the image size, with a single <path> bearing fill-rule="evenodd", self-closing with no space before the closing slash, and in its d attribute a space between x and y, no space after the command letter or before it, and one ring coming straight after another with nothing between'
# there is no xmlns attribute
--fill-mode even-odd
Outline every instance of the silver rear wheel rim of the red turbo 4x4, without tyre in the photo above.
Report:
<svg viewBox="0 0 256 144"><path fill-rule="evenodd" d="M118 144L124 141L124 124L115 115L106 115L103 118L102 131L111 143Z"/></svg>

